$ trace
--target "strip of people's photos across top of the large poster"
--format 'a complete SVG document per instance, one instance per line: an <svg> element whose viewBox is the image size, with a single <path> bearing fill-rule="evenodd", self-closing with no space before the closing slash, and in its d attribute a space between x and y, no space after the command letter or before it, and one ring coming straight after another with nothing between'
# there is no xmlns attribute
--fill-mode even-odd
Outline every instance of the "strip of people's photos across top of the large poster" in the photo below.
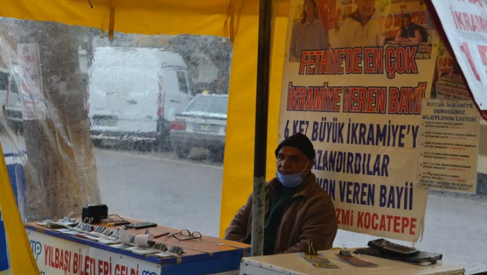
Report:
<svg viewBox="0 0 487 275"><path fill-rule="evenodd" d="M302 50L417 46L431 59L436 37L424 0L302 0L294 11L289 61Z"/></svg>

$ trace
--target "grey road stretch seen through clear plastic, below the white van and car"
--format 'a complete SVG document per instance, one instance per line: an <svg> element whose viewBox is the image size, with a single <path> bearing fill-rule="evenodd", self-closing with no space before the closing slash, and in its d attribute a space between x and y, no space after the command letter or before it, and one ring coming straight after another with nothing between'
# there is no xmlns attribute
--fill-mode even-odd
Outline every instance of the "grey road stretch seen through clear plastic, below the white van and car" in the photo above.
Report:
<svg viewBox="0 0 487 275"><path fill-rule="evenodd" d="M150 155L95 151L110 212L218 236L222 167Z"/></svg>

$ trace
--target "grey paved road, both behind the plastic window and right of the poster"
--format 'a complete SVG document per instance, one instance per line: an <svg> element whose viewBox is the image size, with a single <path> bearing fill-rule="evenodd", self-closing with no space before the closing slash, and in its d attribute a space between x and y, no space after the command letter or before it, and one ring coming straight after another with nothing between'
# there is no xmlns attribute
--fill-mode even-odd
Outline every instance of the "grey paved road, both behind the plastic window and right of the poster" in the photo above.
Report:
<svg viewBox="0 0 487 275"><path fill-rule="evenodd" d="M21 144L21 142L20 142ZM8 145L2 139L4 150ZM223 169L171 154L95 150L103 202L111 213L218 236ZM487 271L487 200L430 196L422 250L467 274ZM339 231L335 246L366 246L373 236Z"/></svg>

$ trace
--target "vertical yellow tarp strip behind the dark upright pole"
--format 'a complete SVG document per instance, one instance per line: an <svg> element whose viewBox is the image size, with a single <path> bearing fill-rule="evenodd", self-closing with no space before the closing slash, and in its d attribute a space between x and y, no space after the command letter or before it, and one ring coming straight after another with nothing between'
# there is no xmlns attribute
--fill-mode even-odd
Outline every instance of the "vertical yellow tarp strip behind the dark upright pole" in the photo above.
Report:
<svg viewBox="0 0 487 275"><path fill-rule="evenodd" d="M258 19L256 19L258 20ZM277 18L274 26L272 49L271 77L269 87L269 117L267 131L267 175L274 177L276 173L276 156L279 128L279 108L281 103L282 68L284 63L284 46L286 41L287 18ZM253 34L239 34L238 39L257 37L258 24ZM235 43L233 49L232 73L230 75L230 97L228 101L229 127L225 141L225 169L223 170L222 213L220 217L220 237L231 219L242 205L244 205L253 188L254 171L254 131L255 131L255 85L257 67L257 39L252 39L252 45ZM240 47L242 48L240 48ZM252 50L250 53L249 50ZM243 51L248 53L248 57ZM237 59L243 57L244 59ZM245 76L239 68L249 68ZM252 79L252 82L250 82ZM237 83L236 83L237 82ZM237 90L238 87L248 87L248 93ZM237 94L237 95L236 95Z"/></svg>

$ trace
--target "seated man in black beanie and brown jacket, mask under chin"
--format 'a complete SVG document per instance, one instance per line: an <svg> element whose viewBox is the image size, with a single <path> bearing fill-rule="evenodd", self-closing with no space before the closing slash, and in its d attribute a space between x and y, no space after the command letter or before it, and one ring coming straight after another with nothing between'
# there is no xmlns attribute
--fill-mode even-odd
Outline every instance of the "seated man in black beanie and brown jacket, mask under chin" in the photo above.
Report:
<svg viewBox="0 0 487 275"><path fill-rule="evenodd" d="M337 216L330 196L319 187L315 149L305 135L284 139L275 151L276 177L265 186L263 254L328 250L337 235ZM225 232L225 239L250 244L252 195Z"/></svg>

